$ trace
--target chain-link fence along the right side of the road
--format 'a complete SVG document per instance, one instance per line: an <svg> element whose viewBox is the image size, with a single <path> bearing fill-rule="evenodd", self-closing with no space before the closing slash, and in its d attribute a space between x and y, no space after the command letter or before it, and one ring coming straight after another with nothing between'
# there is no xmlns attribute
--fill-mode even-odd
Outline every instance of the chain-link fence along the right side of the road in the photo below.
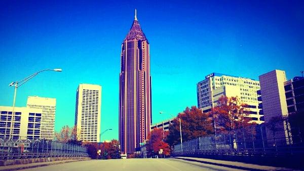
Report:
<svg viewBox="0 0 304 171"><path fill-rule="evenodd" d="M174 146L173 155L286 155L304 154L303 134L288 120L235 129Z"/></svg>

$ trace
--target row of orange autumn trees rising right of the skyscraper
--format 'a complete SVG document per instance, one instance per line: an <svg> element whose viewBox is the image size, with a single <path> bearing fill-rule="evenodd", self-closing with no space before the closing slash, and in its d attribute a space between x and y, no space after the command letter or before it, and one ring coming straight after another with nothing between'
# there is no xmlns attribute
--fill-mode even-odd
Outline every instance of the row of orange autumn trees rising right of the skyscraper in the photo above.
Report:
<svg viewBox="0 0 304 171"><path fill-rule="evenodd" d="M238 97L221 96L217 106L204 113L196 106L179 113L169 126L169 131L154 129L146 142L147 156L159 155L162 149L165 156L170 155L174 145L180 143L179 119L181 121L182 141L197 139L215 133L223 133L256 123L248 117L248 105L242 104Z"/></svg>

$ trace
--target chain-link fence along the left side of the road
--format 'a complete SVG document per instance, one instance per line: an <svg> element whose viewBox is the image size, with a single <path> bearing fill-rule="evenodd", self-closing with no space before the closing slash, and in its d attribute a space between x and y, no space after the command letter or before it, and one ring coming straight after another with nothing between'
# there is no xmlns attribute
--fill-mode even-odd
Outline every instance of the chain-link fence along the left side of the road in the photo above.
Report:
<svg viewBox="0 0 304 171"><path fill-rule="evenodd" d="M39 139L0 139L0 159L87 156L87 148L81 145Z"/></svg>

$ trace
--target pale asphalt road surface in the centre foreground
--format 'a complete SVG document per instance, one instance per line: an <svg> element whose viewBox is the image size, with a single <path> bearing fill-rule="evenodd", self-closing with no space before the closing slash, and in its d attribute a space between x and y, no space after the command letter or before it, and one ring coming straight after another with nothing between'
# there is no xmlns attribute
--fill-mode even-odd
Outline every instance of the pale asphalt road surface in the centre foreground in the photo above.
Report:
<svg viewBox="0 0 304 171"><path fill-rule="evenodd" d="M87 160L29 168L23 170L43 171L192 171L192 170L240 170L229 167L204 164L200 162L185 161L181 159L112 159Z"/></svg>

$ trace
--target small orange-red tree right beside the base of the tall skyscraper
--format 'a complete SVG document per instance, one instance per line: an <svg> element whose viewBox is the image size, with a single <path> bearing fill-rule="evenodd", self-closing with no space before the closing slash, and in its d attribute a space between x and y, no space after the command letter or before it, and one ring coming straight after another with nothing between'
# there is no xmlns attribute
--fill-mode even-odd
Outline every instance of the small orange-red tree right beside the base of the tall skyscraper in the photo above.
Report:
<svg viewBox="0 0 304 171"><path fill-rule="evenodd" d="M170 155L169 144L164 142L167 132L163 129L155 128L148 134L148 141L146 142L147 156L159 155L159 151L163 149L163 155Z"/></svg>

